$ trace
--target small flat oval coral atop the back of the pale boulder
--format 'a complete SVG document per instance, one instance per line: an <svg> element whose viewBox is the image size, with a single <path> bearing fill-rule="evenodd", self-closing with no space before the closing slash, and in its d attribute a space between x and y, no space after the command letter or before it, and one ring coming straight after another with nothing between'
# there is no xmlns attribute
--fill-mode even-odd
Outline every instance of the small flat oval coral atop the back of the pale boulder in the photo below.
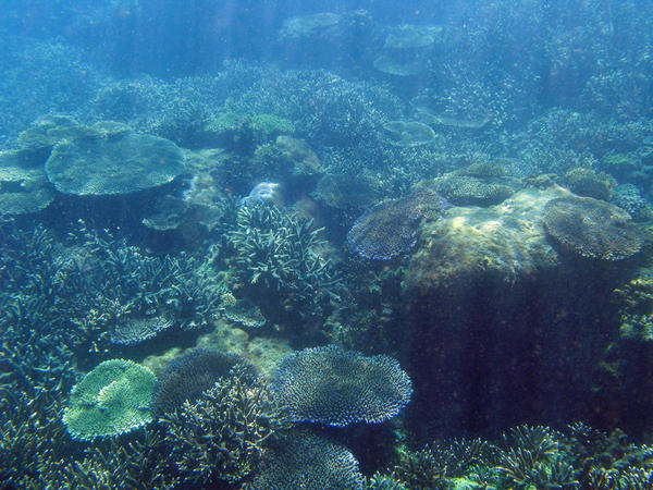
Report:
<svg viewBox="0 0 653 490"><path fill-rule="evenodd" d="M513 188L492 179L448 173L433 181L434 188L457 206L492 206L513 194Z"/></svg>

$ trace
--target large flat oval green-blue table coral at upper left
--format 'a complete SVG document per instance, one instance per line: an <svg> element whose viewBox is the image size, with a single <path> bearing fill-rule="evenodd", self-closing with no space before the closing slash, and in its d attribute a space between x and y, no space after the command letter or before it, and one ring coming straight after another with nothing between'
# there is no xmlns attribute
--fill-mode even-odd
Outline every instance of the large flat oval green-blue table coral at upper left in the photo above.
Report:
<svg viewBox="0 0 653 490"><path fill-rule="evenodd" d="M46 162L48 179L58 191L81 196L156 187L184 169L184 154L174 143L136 133L65 139Z"/></svg>

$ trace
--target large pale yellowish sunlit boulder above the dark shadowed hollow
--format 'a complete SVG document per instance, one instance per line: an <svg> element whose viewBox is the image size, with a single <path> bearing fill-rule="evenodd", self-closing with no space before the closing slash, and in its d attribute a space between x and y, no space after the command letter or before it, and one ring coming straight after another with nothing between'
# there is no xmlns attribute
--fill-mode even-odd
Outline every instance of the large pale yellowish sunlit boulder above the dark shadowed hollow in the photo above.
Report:
<svg viewBox="0 0 653 490"><path fill-rule="evenodd" d="M438 294L467 287L481 277L497 284L555 268L559 257L546 240L544 206L564 196L559 187L519 191L488 208L454 207L419 229L420 247L410 257L403 287Z"/></svg>

